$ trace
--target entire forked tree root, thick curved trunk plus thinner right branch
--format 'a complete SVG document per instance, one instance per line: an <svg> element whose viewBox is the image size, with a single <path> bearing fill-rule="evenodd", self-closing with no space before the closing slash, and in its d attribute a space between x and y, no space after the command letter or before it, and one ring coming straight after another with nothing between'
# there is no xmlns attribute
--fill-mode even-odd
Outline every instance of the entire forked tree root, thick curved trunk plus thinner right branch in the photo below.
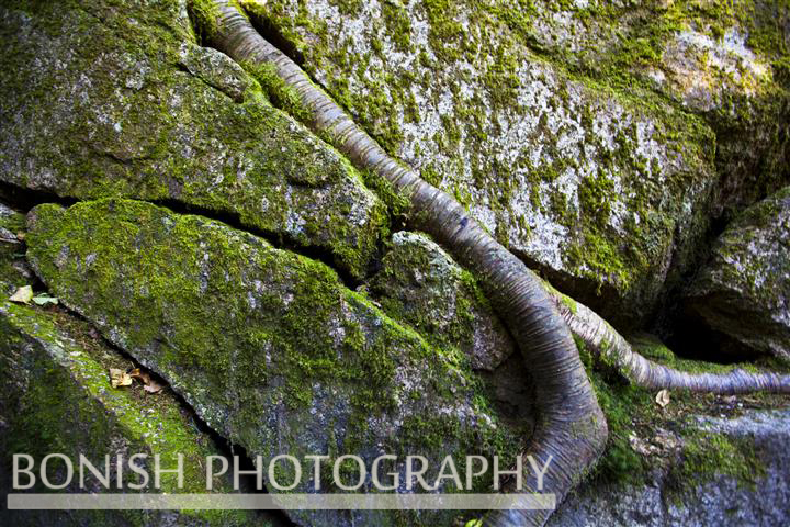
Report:
<svg viewBox="0 0 790 527"><path fill-rule="evenodd" d="M195 0L211 44L241 64L271 65L298 94L306 121L358 167L388 181L410 202L410 223L431 234L481 284L512 333L537 381L541 415L528 452L553 461L543 479L543 492L557 503L598 459L607 439L605 416L578 356L571 332L602 361L614 366L633 383L648 389L686 389L714 393L790 392L790 377L775 373L686 373L652 362L588 307L568 301L498 244L452 197L424 181L387 155L306 74L267 42L232 0ZM537 481L524 474L524 493ZM522 494L523 495L523 494ZM524 496L524 505L528 498ZM540 526L550 511L512 509L490 514L484 525Z"/></svg>

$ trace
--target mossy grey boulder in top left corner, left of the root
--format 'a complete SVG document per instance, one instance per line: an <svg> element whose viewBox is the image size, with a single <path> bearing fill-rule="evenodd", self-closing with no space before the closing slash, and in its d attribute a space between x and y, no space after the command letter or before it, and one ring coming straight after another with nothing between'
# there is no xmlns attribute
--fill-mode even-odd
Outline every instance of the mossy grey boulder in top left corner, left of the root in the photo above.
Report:
<svg viewBox="0 0 790 527"><path fill-rule="evenodd" d="M383 205L252 77L196 44L184 2L3 2L0 38L1 181L212 210L363 273Z"/></svg>

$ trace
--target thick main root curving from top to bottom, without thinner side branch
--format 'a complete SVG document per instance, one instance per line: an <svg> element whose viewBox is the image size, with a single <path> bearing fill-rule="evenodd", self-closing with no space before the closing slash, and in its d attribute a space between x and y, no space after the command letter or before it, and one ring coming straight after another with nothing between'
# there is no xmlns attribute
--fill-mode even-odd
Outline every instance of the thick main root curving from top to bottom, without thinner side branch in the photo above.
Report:
<svg viewBox="0 0 790 527"><path fill-rule="evenodd" d="M306 123L358 167L385 178L411 203L413 226L431 234L455 259L476 273L492 303L512 332L537 381L539 425L528 452L552 461L543 491L557 503L603 450L607 425L567 325L540 279L498 244L449 194L425 182L388 156L316 87L289 57L269 44L239 13L235 2L213 0L212 45L239 63L270 64L309 109ZM205 15L205 13L203 13ZM524 492L538 491L526 471ZM527 503L527 502L524 502ZM490 526L543 525L550 511L518 509L484 519Z"/></svg>

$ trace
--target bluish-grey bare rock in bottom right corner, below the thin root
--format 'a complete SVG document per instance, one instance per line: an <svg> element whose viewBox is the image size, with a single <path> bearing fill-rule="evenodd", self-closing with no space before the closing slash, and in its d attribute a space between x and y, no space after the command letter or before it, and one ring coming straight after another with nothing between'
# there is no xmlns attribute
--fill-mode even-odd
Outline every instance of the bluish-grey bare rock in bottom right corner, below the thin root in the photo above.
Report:
<svg viewBox="0 0 790 527"><path fill-rule="evenodd" d="M549 522L550 527L709 527L779 526L790 516L790 412L748 412L735 418L699 417L697 444L681 447L680 457L636 485L597 485L568 497ZM702 481L689 464L711 441L730 441L752 457L754 472L726 474L716 468ZM682 437L680 438L682 444ZM686 438L688 441L688 436ZM696 450L695 450L696 449ZM748 451L752 449L753 451ZM695 458L696 457L696 458ZM658 463L656 463L658 464ZM718 473L716 473L718 472ZM680 486L678 486L681 484Z"/></svg>

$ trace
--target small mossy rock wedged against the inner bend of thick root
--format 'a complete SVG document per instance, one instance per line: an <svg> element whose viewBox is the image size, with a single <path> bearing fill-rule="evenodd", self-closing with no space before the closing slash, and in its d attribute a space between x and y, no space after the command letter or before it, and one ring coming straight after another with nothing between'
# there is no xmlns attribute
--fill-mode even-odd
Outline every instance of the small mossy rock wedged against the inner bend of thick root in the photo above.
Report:
<svg viewBox="0 0 790 527"><path fill-rule="evenodd" d="M506 422L532 426L534 396L521 354L475 279L428 235L395 233L369 288L387 315L466 355Z"/></svg>

